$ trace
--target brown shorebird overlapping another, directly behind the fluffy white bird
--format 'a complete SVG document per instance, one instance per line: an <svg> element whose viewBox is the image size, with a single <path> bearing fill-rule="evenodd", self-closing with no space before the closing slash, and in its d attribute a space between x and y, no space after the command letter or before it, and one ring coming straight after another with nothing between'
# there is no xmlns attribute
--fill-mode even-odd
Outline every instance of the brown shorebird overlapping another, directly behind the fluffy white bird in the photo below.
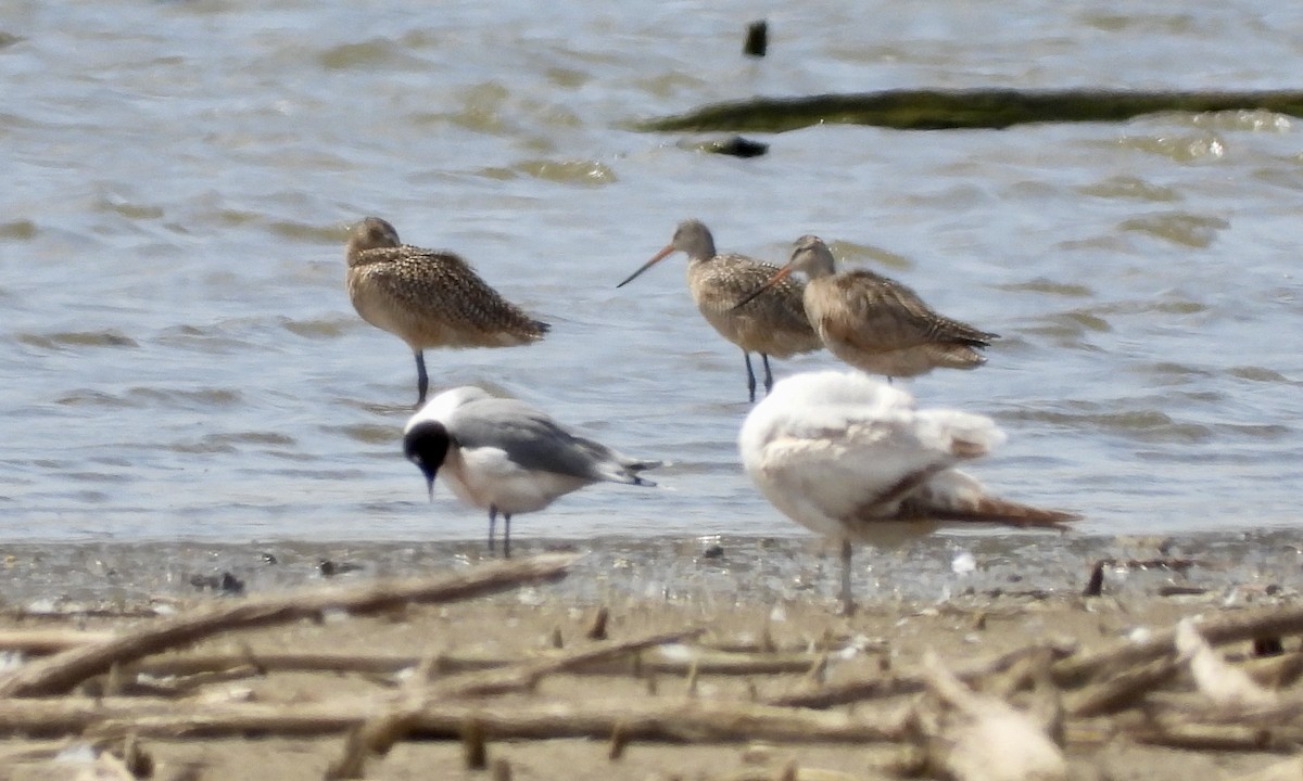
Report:
<svg viewBox="0 0 1303 781"><path fill-rule="evenodd" d="M837 273L833 251L817 236L796 240L787 266L743 299L739 310L794 271L809 277L803 301L820 338L834 355L870 374L912 377L933 368L976 368L986 362L977 350L999 338L938 315L895 280L868 269Z"/></svg>

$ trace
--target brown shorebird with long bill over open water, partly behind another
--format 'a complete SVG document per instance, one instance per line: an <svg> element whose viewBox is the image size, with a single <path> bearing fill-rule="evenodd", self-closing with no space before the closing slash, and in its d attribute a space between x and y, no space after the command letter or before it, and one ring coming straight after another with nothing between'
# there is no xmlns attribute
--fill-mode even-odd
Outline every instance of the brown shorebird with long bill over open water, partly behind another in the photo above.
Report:
<svg viewBox="0 0 1303 781"><path fill-rule="evenodd" d="M801 292L805 286L796 280L774 282L745 311L736 308L747 293L770 281L778 267L745 255L715 254L715 240L700 220L679 223L670 243L616 288L632 282L640 273L676 251L688 255L688 289L701 316L719 332L719 336L741 348L743 359L747 362L747 390L751 393L751 401L756 401L756 372L751 368L752 353L760 353L760 359L765 364L767 393L774 387L774 375L769 368L770 355L787 358L822 346L801 307Z"/></svg>

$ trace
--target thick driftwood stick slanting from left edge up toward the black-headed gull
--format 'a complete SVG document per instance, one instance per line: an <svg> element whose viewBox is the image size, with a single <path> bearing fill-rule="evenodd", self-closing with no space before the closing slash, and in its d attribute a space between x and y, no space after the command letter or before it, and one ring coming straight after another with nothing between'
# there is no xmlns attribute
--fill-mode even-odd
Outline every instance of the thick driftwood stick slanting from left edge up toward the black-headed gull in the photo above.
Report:
<svg viewBox="0 0 1303 781"><path fill-rule="evenodd" d="M145 629L102 643L33 661L0 678L0 698L65 692L86 678L107 672L113 664L132 663L232 629L283 623L330 610L369 613L409 603L455 601L521 583L552 581L564 577L566 570L580 557L549 553L487 564L464 573L330 586L216 604L159 620Z"/></svg>

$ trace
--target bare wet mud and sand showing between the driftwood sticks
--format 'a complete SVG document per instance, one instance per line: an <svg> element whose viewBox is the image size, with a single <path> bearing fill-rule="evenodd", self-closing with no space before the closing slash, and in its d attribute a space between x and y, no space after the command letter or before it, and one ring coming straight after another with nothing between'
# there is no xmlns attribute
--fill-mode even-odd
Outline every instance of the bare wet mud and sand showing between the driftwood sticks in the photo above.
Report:
<svg viewBox="0 0 1303 781"><path fill-rule="evenodd" d="M956 541L958 540L958 541ZM1005 548L986 539L930 538L909 552L885 553L866 562L861 609L835 614L835 558L822 556L813 540L659 540L594 547L575 571L555 584L525 586L506 594L448 605L418 605L380 616L326 616L250 631L227 633L201 642L186 653L236 653L250 659L284 652L330 652L358 656L407 656L413 660L519 660L586 647L586 635L605 609L606 642L624 642L648 633L700 627L704 634L683 648L732 653L754 651L804 659L787 672L754 674L692 673L691 666L659 673L620 669L607 673L564 673L542 679L533 691L478 702L485 708L525 712L539 703L628 702L680 704L747 703L788 692L818 691L847 681L885 676L919 666L926 651L960 669L1036 642L1074 646L1078 652L1109 647L1122 638L1170 627L1187 616L1214 618L1246 609L1296 604L1298 553L1281 536L1199 540L1058 540L1061 557L1033 556L1050 540L1012 538ZM568 547L534 543L538 548ZM160 556L160 551L171 560ZM276 564L255 564L259 548ZM394 564L407 556L420 569L469 571L478 545L440 548L430 558L416 548L360 549L311 545L231 547L223 549L96 547L78 553L10 548L7 571L12 584L0 634L8 630L76 629L124 633L163 617L212 604L236 603L238 595L201 592L189 581L227 573L246 594L267 595L304 584L322 584L322 560L361 569L332 582L367 582L377 575L408 574ZM1065 551L1066 548L1066 551ZM400 551L409 551L400 553ZM526 551L528 552L528 551ZM382 555L383 553L383 555ZM969 571L963 555L973 557ZM258 553L259 556L262 553ZM1012 556L1023 557L1019 566ZM188 558L188 556L193 556ZM91 586L90 570L68 575L76 597L51 591L52 573L40 566L57 560L99 562L96 577L115 579L112 588ZM1092 564L1102 568L1100 596L1083 596ZM231 562L248 569L223 569ZM930 562L923 565L920 562ZM1078 566L1068 575L1067 565ZM130 570L128 568L136 568ZM202 571L195 569L202 564ZM1293 564L1293 566L1291 566ZM126 568L126 569L124 569ZM1012 577L1010 570L1022 569ZM347 569L347 568L345 568ZM194 571L192 571L194 570ZM138 578L132 581L130 571ZM160 574L163 573L163 574ZM171 574L167 574L171 573ZM274 573L274 574L268 574ZM1057 574L1055 574L1057 573ZM863 574L863 573L861 573ZM1014 573L1018 575L1018 573ZM1055 582L1055 578L1057 582ZM220 587L220 579L210 582ZM883 587L890 583L891 587ZM206 583L207 584L207 583ZM923 597L920 595L928 595ZM1243 653L1244 643L1226 652ZM1285 639L1286 651L1298 640ZM558 648L560 651L558 651ZM814 670L813 673L810 670ZM448 674L455 674L450 672ZM370 702L394 696L404 677L387 674L323 674L268 672L235 676L189 691L212 708L238 703L310 706ZM167 683L162 681L160 683ZM82 690L79 700L87 694ZM917 695L839 706L834 712L864 717L907 706ZM352 699L349 699L352 698ZM106 698L104 707L122 698ZM459 707L463 707L463 704ZM450 706L451 707L451 706ZM821 711L822 712L822 711ZM0 741L0 778L74 778L91 769L86 748L94 737L27 735ZM1128 738L1124 730L1070 720L1066 754L1074 778L1234 778L1282 756L1268 751L1175 750ZM147 734L139 745L155 765L155 778L323 778L344 751L343 733L326 735L163 737ZM899 742L827 742L825 739L756 739L671 743L633 739L611 759L609 739L495 739L486 743L489 769L469 769L457 739L403 741L386 756L365 764L366 778L891 778L912 750ZM792 771L795 769L795 776ZM843 773L843 774L838 774Z"/></svg>

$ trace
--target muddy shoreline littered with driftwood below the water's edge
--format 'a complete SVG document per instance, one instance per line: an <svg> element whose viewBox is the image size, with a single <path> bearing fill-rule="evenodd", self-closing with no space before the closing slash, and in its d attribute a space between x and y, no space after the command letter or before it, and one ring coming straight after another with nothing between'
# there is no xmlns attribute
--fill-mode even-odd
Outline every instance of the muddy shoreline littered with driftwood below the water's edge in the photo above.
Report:
<svg viewBox="0 0 1303 781"><path fill-rule="evenodd" d="M1145 642L1187 617L1216 622L1296 612L1298 551L1289 539L942 535L865 556L861 609L851 617L835 613L835 557L817 540L594 541L582 548L534 541L523 553L576 548L585 556L556 583L377 614L327 610L218 633L59 696L8 698L0 702L0 721L9 724L9 737L0 741L0 778L117 777L103 776L104 763L117 761L113 752L122 752L128 737L155 778L324 778L348 756L349 730L322 728L321 720L349 722L392 707L421 669L447 699L423 712L413 734L387 754L367 754L357 777L851 781L900 777L907 769L937 777L934 768L920 765L921 748L908 732L891 732L903 709L926 703L919 687L842 704L818 700L865 681L898 686L920 674L928 653L952 670L1020 659L1024 651L1049 655L1046 664L1067 664L1065 659ZM61 642L99 642L194 612L366 587L416 570L473 577L494 566L481 562L477 551L474 543L159 543L59 553L10 547L5 571L12 590L0 610L0 640L55 633ZM327 578L322 560L358 569ZM1100 561L1106 562L1097 568L1101 595L1083 596ZM64 590L55 590L59 566L78 562L103 568L98 579L91 566L77 577L65 569ZM190 582L215 573L242 582L242 595ZM658 633L681 639L606 666L554 670L530 686L450 694L474 676L509 677L520 665ZM1247 642L1220 651L1237 664L1285 670L1303 651L1296 637L1276 639L1282 653L1274 659L1255 661ZM52 650L9 648L8 659L18 664ZM9 674L13 669L21 668L10 666ZM973 686L1012 686L1002 696L1035 709L1036 689L1007 683L1011 674L1001 668ZM1294 696L1295 678L1276 682L1281 696ZM1071 778L1237 778L1294 750L1287 724L1273 725L1272 739L1260 742L1246 742L1227 726L1222 743L1177 747L1170 735L1157 741L1147 733L1132 706L1072 715L1084 696L1074 686L1063 683L1057 695L1059 711L1068 713L1062 741ZM1149 696L1147 707L1157 707L1192 694L1181 674L1160 689L1138 689L1138 698ZM765 703L787 706L748 713ZM287 719L300 726L283 729ZM787 719L809 732L784 726ZM482 767L468 761L474 751L466 724L480 725ZM754 732L739 733L737 725Z"/></svg>

